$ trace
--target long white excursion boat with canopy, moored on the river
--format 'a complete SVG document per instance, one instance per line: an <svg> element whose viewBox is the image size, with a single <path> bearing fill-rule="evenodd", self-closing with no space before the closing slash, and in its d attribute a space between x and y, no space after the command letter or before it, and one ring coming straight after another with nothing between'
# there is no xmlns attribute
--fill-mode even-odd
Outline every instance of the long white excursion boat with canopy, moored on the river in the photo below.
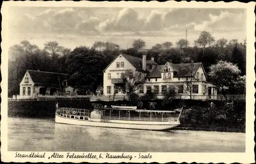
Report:
<svg viewBox="0 0 256 164"><path fill-rule="evenodd" d="M166 130L180 125L182 109L177 111L104 108L101 104L92 104L94 110L64 108L56 105L55 123L141 129ZM174 115L173 115L174 114Z"/></svg>

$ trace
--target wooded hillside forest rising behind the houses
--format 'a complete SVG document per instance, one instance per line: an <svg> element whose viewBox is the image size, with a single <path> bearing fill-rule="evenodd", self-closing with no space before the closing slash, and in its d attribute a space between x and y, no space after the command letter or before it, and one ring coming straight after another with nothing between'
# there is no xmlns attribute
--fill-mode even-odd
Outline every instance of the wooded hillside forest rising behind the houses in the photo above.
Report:
<svg viewBox="0 0 256 164"><path fill-rule="evenodd" d="M120 49L118 44L96 41L91 47L78 45L74 50L59 45L56 41L47 41L44 48L28 40L10 46L8 52L8 96L19 94L19 83L27 69L45 72L66 73L70 75L70 84L76 87L87 86L95 91L98 85L103 84L103 69L119 54L124 53L136 57L146 55L147 59L154 57L158 64L202 62L208 81L226 86L227 81L212 72L222 69L225 77L226 67L236 70L238 79L232 85L245 85L246 74L246 38L243 42L237 39L215 40L207 31L202 31L194 43L185 39L178 42L171 41L158 43L151 49L145 49L146 42L135 39L131 48ZM224 66L223 66L224 65ZM224 69L223 69L224 68ZM231 84L230 84L231 85ZM230 89L230 94L244 93Z"/></svg>

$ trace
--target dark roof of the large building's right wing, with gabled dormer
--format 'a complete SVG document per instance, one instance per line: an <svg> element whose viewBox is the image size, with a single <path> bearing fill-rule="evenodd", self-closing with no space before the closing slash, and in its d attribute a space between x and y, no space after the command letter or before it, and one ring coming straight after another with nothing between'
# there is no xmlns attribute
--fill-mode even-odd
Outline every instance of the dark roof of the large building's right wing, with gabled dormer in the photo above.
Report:
<svg viewBox="0 0 256 164"><path fill-rule="evenodd" d="M167 62L175 72L177 72L174 77L189 77L190 76L190 63L181 63L181 64L174 64ZM192 67L192 74L194 75L197 71L197 69L202 65L202 63L194 63ZM147 74L146 78L159 78L161 77L161 69L163 68L164 65L157 65L155 69Z"/></svg>

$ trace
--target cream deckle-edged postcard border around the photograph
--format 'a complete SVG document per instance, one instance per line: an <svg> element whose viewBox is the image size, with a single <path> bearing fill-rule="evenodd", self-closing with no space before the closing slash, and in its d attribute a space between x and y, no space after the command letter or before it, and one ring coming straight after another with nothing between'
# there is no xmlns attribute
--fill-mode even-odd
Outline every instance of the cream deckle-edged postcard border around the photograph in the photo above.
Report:
<svg viewBox="0 0 256 164"><path fill-rule="evenodd" d="M247 9L247 57L246 57L246 152L245 153L151 153L152 159L138 159L133 158L129 159L40 159L40 158L14 158L15 152L7 151L7 91L8 91L8 7L9 6L41 6L41 7L147 7L147 8L246 8ZM224 163L252 163L254 161L254 82L255 82L255 73L254 73L254 64L255 64L255 50L254 50L254 15L255 3L239 3L239 2L163 2L159 3L156 1L153 2L3 2L1 13L3 16L2 21L2 64L1 64L1 73L2 73L2 82L1 82L1 157L5 162L224 162ZM26 153L26 152L23 152ZM29 153L29 152L27 152ZM46 156L51 155L53 152L47 152ZM62 152L64 153L64 152ZM78 153L78 152L76 152ZM98 152L100 153L100 152ZM104 152L101 152L104 153ZM65 153L64 153L65 154ZM97 154L97 152L94 152ZM118 154L120 153L112 153ZM131 155L138 155L137 152L127 153Z"/></svg>

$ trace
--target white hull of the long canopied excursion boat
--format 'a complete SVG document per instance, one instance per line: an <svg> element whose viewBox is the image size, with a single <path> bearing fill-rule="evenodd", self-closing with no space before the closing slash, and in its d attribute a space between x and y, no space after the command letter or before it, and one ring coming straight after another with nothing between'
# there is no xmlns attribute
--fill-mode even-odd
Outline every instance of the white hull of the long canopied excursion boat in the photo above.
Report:
<svg viewBox="0 0 256 164"><path fill-rule="evenodd" d="M129 123L130 122L130 123ZM83 126L96 126L96 127L110 127L110 128L124 128L124 129L141 129L141 130L166 130L171 129L176 126L179 126L180 123L174 122L140 122L140 123L131 123L133 121L126 121L126 122L101 122L99 120L76 120L76 119L69 119L63 118L55 114L55 123L62 123L62 124L72 124L72 125L83 125Z"/></svg>

